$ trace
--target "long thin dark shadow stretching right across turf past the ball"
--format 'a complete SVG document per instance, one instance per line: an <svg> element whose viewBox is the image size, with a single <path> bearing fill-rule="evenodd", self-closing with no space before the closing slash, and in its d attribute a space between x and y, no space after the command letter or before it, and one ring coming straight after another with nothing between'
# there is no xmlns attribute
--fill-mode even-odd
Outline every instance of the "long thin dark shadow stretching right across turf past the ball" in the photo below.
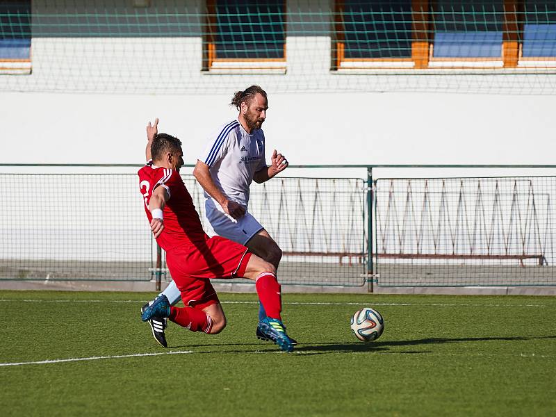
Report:
<svg viewBox="0 0 556 417"><path fill-rule="evenodd" d="M410 341L376 341L370 343L318 343L316 345L302 344L296 348L307 352L376 352L389 350L389 347L438 345L443 343L484 342L484 341L529 341L534 339L552 339L556 336L512 336L512 337L468 337L468 338L423 338ZM430 351L398 352L398 353L427 353Z"/></svg>

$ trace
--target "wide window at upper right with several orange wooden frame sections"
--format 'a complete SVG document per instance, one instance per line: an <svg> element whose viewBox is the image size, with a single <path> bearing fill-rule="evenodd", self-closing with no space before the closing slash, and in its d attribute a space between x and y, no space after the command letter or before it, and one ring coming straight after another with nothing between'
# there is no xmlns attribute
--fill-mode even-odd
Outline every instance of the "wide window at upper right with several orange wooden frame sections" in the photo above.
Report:
<svg viewBox="0 0 556 417"><path fill-rule="evenodd" d="M336 0L332 70L556 67L556 3Z"/></svg>

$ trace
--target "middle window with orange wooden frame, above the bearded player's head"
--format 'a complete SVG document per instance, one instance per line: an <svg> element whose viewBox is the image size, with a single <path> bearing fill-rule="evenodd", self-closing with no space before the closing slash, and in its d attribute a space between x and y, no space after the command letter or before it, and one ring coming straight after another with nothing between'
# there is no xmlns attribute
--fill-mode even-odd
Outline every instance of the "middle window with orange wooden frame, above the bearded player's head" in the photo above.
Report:
<svg viewBox="0 0 556 417"><path fill-rule="evenodd" d="M286 70L284 0L207 0L206 7L204 70Z"/></svg>

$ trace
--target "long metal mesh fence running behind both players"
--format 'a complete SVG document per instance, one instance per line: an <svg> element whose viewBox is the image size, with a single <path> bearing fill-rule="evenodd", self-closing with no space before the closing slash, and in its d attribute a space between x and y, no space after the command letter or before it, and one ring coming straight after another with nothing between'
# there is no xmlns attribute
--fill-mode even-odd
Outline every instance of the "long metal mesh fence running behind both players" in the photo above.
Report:
<svg viewBox="0 0 556 417"><path fill-rule="evenodd" d="M556 177L373 179L373 166L358 167L366 179L252 186L250 212L284 252L283 284L556 285ZM206 226L202 190L182 177ZM8 173L0 181L10 196L0 203L0 279L170 279L136 174Z"/></svg>

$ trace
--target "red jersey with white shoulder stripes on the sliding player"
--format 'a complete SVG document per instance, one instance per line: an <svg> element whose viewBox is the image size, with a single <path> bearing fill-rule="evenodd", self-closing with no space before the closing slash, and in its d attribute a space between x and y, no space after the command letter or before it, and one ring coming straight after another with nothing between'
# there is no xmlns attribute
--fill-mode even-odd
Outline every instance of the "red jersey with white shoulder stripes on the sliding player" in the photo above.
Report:
<svg viewBox="0 0 556 417"><path fill-rule="evenodd" d="M193 205L193 199L179 172L170 168L154 167L152 162L149 162L139 170L138 175L139 190L145 202L145 213L149 222L152 220L149 201L154 190L164 187L170 196L163 210L164 230L156 239L163 250L170 252L183 245L196 246L195 243L208 239Z"/></svg>

